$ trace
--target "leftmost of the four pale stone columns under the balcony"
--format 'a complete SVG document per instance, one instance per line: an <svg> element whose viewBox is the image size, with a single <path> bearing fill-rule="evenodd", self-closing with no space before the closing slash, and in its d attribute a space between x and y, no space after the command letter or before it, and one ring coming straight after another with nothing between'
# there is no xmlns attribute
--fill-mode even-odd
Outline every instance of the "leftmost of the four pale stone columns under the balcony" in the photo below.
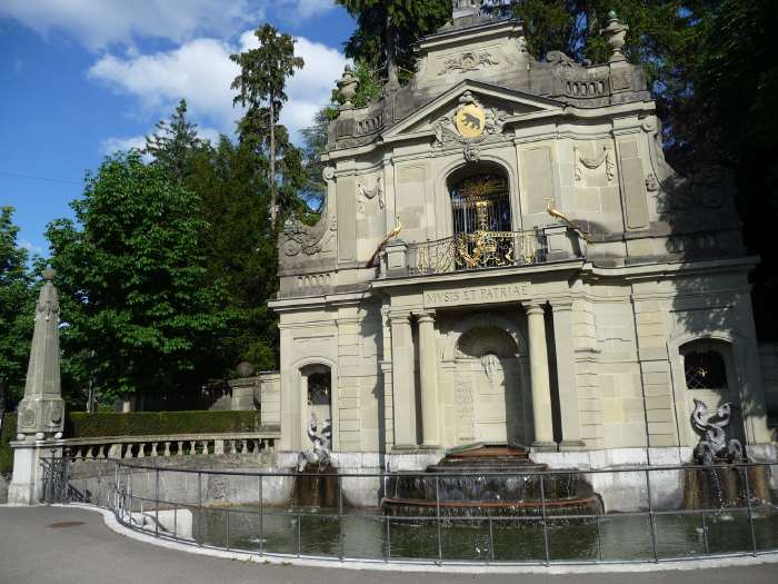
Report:
<svg viewBox="0 0 778 584"><path fill-rule="evenodd" d="M389 313L391 326L391 370L395 398L395 448L416 448L416 392L413 379L413 337L410 313Z"/></svg>

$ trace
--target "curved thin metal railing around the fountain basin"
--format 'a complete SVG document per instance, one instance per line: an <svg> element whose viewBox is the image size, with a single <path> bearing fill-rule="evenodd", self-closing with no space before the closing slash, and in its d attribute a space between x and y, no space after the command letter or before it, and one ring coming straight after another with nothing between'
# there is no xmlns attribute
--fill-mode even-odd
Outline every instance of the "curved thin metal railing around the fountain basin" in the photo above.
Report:
<svg viewBox="0 0 778 584"><path fill-rule="evenodd" d="M43 492L54 498L109 508L156 537L262 556L549 565L778 552L766 464L319 474L103 459L97 477L43 464L53 469ZM295 503L301 482L323 488L327 479L337 486L326 505ZM472 489L483 495L478 503L467 498Z"/></svg>

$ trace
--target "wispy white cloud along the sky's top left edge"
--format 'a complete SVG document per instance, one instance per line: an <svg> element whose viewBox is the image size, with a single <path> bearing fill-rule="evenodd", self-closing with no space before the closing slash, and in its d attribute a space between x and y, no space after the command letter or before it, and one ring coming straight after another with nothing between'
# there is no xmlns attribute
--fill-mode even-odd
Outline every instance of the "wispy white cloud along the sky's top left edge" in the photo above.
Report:
<svg viewBox="0 0 778 584"><path fill-rule="evenodd" d="M228 36L265 17L261 0L2 0L0 17L47 36L62 30L97 49L153 37L183 41L198 33Z"/></svg>

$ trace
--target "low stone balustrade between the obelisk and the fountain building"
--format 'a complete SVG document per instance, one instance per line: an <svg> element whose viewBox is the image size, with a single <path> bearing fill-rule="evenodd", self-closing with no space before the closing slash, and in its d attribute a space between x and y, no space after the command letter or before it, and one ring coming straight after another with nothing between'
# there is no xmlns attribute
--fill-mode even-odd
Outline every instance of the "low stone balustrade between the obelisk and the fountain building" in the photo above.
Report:
<svg viewBox="0 0 778 584"><path fill-rule="evenodd" d="M255 454L273 452L281 436L277 427L239 434L177 434L167 436L110 436L57 441L53 448L76 461Z"/></svg>

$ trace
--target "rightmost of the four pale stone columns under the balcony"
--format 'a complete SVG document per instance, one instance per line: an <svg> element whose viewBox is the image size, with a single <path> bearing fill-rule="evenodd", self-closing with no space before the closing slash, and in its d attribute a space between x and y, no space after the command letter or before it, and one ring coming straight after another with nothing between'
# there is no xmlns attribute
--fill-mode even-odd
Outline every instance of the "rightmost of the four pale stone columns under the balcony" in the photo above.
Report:
<svg viewBox="0 0 778 584"><path fill-rule="evenodd" d="M572 346L572 299L555 300L553 342L557 354L557 383L559 384L559 409L562 423L561 451L584 448L581 425L578 418L578 382L576 378L576 352Z"/></svg>

